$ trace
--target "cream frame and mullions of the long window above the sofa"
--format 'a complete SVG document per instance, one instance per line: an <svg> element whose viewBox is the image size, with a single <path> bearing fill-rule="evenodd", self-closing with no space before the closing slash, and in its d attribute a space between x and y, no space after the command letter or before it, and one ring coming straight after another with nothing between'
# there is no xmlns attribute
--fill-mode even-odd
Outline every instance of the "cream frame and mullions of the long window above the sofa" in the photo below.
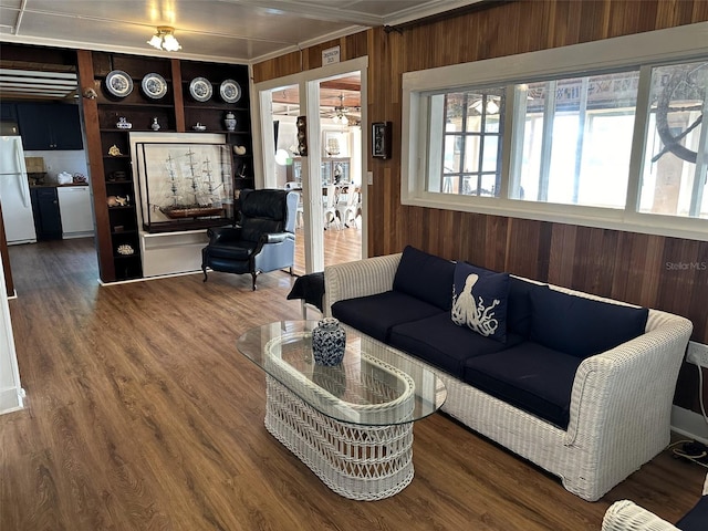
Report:
<svg viewBox="0 0 708 531"><path fill-rule="evenodd" d="M699 44L699 43L702 43ZM671 236L708 241L708 220L645 214L638 211L645 131L649 115L649 84L653 66L690 62L708 56L708 22L656 30L602 41L460 63L403 74L402 112L402 204L446 210L460 210L513 218L555 221L633 232ZM426 191L428 136L431 124L431 95L491 85L509 85L507 102L512 102L513 84L520 80L542 81L561 76L595 75L624 67L641 70L636 102L634 138L625 208L602 208L509 199L513 137L518 124L507 108L502 137L500 197L448 195ZM473 82L473 83L472 83ZM704 126L708 127L708 124ZM633 206L628 208L628 206Z"/></svg>

